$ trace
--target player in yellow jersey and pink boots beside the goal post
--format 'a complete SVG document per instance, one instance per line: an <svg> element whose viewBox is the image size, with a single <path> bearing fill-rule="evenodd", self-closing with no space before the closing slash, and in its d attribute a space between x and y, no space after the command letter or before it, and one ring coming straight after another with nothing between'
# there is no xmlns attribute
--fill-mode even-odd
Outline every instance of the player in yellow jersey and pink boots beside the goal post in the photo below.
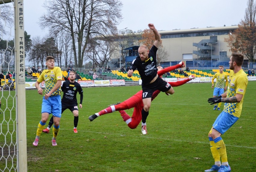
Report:
<svg viewBox="0 0 256 172"><path fill-rule="evenodd" d="M54 58L52 56L46 57L46 66L48 69L45 69L39 78L36 80L35 87L38 89L38 94L43 95L43 89L39 84L44 81L45 91L42 103L41 110L41 121L38 124L35 141L33 142L34 146L38 145L39 137L44 129L45 123L49 118L49 114L53 114L53 139L52 145L56 146L56 137L59 133L59 121L61 117L61 81L62 73L59 67L54 66Z"/></svg>

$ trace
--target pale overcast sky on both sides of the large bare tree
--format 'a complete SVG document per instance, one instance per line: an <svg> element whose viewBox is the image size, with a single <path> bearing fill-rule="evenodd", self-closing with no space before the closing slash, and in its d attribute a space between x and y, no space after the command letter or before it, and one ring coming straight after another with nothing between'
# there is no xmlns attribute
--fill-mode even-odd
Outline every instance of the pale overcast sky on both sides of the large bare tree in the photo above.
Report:
<svg viewBox="0 0 256 172"><path fill-rule="evenodd" d="M237 25L244 19L247 0L121 0L123 20L117 29L133 31L206 28ZM24 0L25 31L32 37L45 36L38 25L45 13L44 0Z"/></svg>

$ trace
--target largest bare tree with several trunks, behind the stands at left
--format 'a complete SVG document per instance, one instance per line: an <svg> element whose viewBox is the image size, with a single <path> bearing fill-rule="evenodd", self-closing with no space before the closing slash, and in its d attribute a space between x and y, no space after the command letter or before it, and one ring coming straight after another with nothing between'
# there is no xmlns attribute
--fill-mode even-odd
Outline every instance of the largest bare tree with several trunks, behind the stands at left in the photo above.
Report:
<svg viewBox="0 0 256 172"><path fill-rule="evenodd" d="M122 5L119 0L47 0L41 27L50 28L50 32L68 32L75 65L82 67L90 36L112 34L122 18Z"/></svg>

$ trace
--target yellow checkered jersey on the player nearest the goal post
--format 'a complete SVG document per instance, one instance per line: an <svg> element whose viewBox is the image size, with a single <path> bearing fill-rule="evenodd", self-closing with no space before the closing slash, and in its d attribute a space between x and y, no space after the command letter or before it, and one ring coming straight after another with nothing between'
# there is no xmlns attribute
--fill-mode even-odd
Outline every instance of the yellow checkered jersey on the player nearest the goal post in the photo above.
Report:
<svg viewBox="0 0 256 172"><path fill-rule="evenodd" d="M39 83L44 81L45 83L45 92L44 95L50 92L53 89L57 80L62 80L62 73L59 67L54 67L53 69L45 69L37 79ZM59 87L55 92L52 93L51 96L60 95L61 87Z"/></svg>

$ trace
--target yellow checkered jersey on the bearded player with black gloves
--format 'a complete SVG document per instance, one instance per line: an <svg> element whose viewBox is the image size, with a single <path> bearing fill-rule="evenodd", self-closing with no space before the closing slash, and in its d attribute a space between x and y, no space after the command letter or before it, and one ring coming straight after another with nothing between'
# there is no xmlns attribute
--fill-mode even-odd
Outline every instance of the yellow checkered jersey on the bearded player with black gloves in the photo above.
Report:
<svg viewBox="0 0 256 172"><path fill-rule="evenodd" d="M228 82L227 98L236 96L237 93L245 95L245 91L248 85L248 77L242 69L237 73L234 73L233 70L230 70ZM239 103L225 103L223 111L239 118L242 112L243 101L244 96Z"/></svg>

